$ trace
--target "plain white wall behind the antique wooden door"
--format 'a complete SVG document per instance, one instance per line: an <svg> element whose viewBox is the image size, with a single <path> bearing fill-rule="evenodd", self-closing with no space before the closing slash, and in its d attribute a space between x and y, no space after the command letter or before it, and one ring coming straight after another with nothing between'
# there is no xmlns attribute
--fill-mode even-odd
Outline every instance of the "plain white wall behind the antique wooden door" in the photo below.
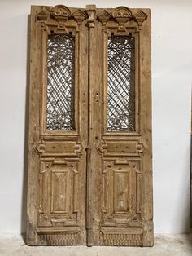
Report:
<svg viewBox="0 0 192 256"><path fill-rule="evenodd" d="M59 3L71 7L95 3L98 7L151 8L155 232L187 232L192 2L0 0L0 233L20 233L25 228L23 183L30 5Z"/></svg>

